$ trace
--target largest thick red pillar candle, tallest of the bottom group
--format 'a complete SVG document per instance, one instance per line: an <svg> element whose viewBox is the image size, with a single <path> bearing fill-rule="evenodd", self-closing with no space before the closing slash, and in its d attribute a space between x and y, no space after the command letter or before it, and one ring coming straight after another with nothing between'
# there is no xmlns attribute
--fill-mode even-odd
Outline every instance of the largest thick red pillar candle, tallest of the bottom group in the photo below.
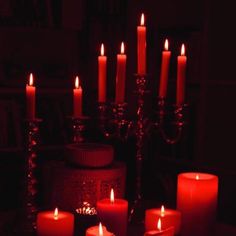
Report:
<svg viewBox="0 0 236 236"><path fill-rule="evenodd" d="M217 176L191 172L178 175L177 209L182 212L181 235L212 235L217 195Z"/></svg>

